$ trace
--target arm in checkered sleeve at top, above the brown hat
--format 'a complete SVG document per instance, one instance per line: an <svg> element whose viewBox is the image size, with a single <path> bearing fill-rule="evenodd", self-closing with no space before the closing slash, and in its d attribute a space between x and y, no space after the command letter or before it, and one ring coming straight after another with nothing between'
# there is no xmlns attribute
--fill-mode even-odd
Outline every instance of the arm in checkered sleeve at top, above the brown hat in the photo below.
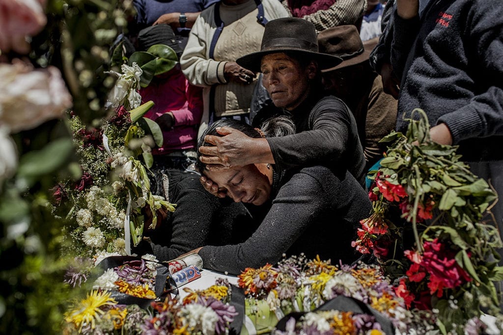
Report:
<svg viewBox="0 0 503 335"><path fill-rule="evenodd" d="M366 0L338 0L330 8L305 15L302 19L311 22L319 33L331 27L355 25L363 18L366 8Z"/></svg>

